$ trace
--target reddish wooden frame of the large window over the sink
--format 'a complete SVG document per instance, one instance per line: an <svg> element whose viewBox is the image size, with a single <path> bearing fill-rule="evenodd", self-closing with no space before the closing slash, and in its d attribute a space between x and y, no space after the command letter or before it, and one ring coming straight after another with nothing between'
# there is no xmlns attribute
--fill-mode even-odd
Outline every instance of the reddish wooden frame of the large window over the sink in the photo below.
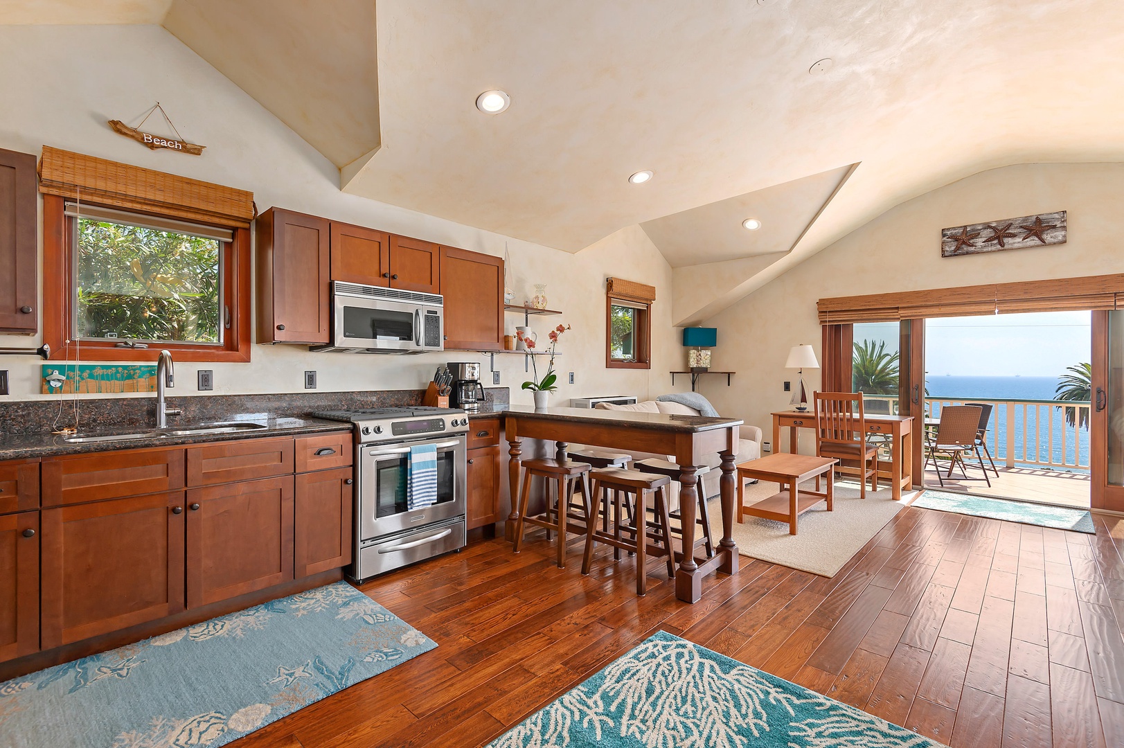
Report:
<svg viewBox="0 0 1124 748"><path fill-rule="evenodd" d="M51 358L82 358L97 361L151 361L155 351L166 349L179 361L248 362L251 353L251 235L245 227L234 228L234 241L220 244L221 304L230 310L230 326L224 328L221 344L153 342L148 348L118 348L111 340L87 340L75 343L71 337L73 316L67 310L74 297L75 224L65 215L66 199L57 195L43 196L43 330L44 342L51 345ZM91 202L91 205L99 205ZM99 205L119 210L111 205ZM156 211L130 210L139 215L163 216ZM67 355L66 340L70 339ZM120 341L118 341L120 342ZM90 354L87 355L85 352Z"/></svg>

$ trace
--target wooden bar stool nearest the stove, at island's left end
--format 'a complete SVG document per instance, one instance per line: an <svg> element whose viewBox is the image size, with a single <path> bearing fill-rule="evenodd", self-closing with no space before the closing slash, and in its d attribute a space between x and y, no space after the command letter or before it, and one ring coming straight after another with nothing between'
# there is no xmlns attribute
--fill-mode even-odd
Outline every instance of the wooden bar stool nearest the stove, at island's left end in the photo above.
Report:
<svg viewBox="0 0 1124 748"><path fill-rule="evenodd" d="M586 534L587 525L590 523L590 515L593 513L593 504L590 499L589 485L587 478L592 468L588 462L574 462L566 460L560 462L553 458L537 458L523 461L523 490L519 493L519 519L515 523L515 552L523 548L523 528L525 523L540 528L546 528L546 540L551 539L551 531L559 533L559 568L565 568L565 533L566 531ZM535 516L527 516L527 502L531 498L531 479L533 477L543 478L546 492L546 511ZM551 485L555 490L551 492ZM583 511L578 514L571 510L570 503L574 488L581 490ZM553 504L552 504L553 493ZM581 525L573 524L570 520L581 522Z"/></svg>

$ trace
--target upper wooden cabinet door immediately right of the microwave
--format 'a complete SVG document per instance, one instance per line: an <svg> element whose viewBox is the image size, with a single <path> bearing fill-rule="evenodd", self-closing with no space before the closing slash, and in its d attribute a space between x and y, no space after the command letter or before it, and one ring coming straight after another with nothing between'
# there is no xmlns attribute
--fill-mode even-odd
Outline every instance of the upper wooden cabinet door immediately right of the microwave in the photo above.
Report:
<svg viewBox="0 0 1124 748"><path fill-rule="evenodd" d="M445 297L445 348L504 348L504 260L491 254L441 247Z"/></svg>

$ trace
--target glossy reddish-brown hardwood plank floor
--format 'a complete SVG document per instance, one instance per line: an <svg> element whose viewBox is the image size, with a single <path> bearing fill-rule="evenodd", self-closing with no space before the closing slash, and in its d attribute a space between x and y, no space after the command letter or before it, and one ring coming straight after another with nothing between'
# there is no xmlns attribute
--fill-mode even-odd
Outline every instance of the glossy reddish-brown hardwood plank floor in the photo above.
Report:
<svg viewBox="0 0 1124 748"><path fill-rule="evenodd" d="M439 647L239 748L474 746L665 630L953 748L1124 745L1124 519L1087 535L904 508L832 578L743 557L676 600L661 559L580 571L529 535L363 591Z"/></svg>

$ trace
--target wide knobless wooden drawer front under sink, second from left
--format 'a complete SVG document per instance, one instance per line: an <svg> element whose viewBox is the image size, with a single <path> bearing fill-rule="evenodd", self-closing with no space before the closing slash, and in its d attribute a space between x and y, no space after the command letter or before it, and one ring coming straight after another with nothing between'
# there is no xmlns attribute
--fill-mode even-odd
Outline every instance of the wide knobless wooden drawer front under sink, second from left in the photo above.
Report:
<svg viewBox="0 0 1124 748"><path fill-rule="evenodd" d="M63 506L183 488L182 449L134 449L47 458L43 505Z"/></svg>

